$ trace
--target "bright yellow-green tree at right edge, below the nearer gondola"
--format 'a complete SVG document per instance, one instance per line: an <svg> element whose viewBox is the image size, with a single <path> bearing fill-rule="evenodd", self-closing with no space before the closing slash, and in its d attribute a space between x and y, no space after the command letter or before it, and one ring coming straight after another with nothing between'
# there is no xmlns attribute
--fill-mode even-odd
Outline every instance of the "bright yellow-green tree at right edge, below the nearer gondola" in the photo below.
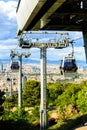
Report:
<svg viewBox="0 0 87 130"><path fill-rule="evenodd" d="M87 81L80 84L64 83L64 91L55 99L57 107L65 110L65 106L72 104L79 112L87 112Z"/></svg>

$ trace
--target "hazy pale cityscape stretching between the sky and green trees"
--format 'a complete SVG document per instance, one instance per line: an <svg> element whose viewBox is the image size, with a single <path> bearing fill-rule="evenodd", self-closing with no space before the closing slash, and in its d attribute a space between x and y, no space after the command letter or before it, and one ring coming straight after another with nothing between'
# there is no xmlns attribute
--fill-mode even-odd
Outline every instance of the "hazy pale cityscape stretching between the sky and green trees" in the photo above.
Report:
<svg viewBox="0 0 87 130"><path fill-rule="evenodd" d="M29 62L29 61L27 61ZM22 64L22 85L24 85L25 80L41 80L40 76L40 62ZM9 62L10 63L10 62ZM18 91L19 85L19 71L12 71L10 64L0 65L0 89L5 92L10 92L10 87L12 85L12 91ZM57 62L56 62L57 63ZM10 82L7 80L10 78ZM58 64L47 64L47 82L76 82L80 83L87 79L87 68L78 67L77 73L71 73L68 75L61 75Z"/></svg>

